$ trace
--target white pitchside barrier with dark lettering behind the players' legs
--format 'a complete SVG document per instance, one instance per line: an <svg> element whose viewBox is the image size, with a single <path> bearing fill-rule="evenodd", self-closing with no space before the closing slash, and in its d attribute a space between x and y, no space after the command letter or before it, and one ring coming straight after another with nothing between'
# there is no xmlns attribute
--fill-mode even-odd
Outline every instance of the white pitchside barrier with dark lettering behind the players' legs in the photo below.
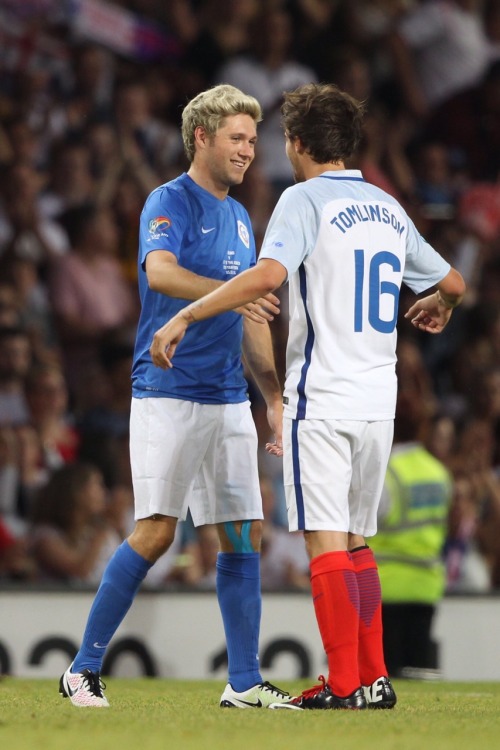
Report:
<svg viewBox="0 0 500 750"><path fill-rule="evenodd" d="M79 645L92 590L0 588L0 673L56 678ZM445 680L500 680L500 596L447 596L434 638ZM265 593L260 662L266 679L325 670L308 593ZM224 679L226 651L213 592L143 591L110 643L104 673Z"/></svg>

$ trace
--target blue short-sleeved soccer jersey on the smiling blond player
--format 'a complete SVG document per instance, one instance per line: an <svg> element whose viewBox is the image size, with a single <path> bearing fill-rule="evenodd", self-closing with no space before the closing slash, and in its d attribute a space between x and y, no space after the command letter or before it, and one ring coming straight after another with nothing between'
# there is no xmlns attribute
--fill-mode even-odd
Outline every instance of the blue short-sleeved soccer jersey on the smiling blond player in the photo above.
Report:
<svg viewBox="0 0 500 750"><path fill-rule="evenodd" d="M202 404L247 399L243 375L241 315L227 312L190 326L179 344L174 367L154 367L149 354L153 333L191 300L149 288L146 257L168 250L179 265L200 276L228 281L255 265L255 240L248 213L227 197L219 200L187 174L161 185L148 197L139 230L141 315L132 368L136 398L170 397Z"/></svg>

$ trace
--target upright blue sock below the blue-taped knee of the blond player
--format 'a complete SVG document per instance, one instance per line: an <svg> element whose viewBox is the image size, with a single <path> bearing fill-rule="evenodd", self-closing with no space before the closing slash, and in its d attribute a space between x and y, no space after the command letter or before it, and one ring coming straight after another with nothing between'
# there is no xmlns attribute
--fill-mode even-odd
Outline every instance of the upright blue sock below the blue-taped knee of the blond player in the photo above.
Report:
<svg viewBox="0 0 500 750"><path fill-rule="evenodd" d="M259 671L260 554L219 552L216 585L226 634L229 682L241 693L262 682Z"/></svg>

